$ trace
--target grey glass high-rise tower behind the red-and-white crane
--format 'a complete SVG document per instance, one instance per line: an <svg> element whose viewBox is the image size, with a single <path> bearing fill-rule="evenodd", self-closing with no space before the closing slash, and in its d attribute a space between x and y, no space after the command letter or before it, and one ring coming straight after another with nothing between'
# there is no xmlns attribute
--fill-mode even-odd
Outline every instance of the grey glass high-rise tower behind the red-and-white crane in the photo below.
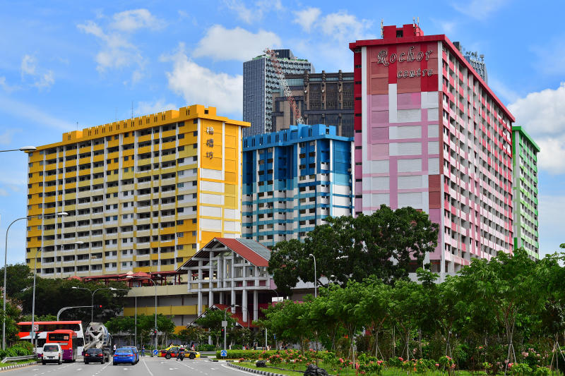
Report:
<svg viewBox="0 0 565 376"><path fill-rule="evenodd" d="M290 49L275 49L280 66L286 73L314 72L309 61L297 59ZM251 123L244 136L273 130L273 91L280 90L278 76L267 55L243 63L243 120Z"/></svg>

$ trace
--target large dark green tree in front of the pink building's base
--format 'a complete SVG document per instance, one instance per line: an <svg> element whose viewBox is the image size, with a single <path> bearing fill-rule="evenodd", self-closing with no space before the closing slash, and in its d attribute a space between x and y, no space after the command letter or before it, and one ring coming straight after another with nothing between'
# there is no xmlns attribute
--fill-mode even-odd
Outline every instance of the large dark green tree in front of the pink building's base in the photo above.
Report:
<svg viewBox="0 0 565 376"><path fill-rule="evenodd" d="M327 217L304 243L282 241L275 245L268 272L278 289L290 294L299 279L314 281L316 274L333 276L338 284L362 281L375 275L386 284L408 277L412 265L422 265L426 253L437 245L439 225L412 207L391 210L386 205L371 215ZM347 258L343 257L347 256Z"/></svg>

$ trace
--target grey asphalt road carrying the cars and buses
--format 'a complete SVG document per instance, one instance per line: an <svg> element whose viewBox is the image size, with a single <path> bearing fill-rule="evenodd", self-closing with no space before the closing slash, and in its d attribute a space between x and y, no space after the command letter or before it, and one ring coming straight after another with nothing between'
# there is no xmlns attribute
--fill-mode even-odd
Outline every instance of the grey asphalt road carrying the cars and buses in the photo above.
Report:
<svg viewBox="0 0 565 376"><path fill-rule="evenodd" d="M29 365L0 372L6 376L246 376L254 373L228 367L225 362L211 362L208 358L183 361L165 358L141 357L136 365L112 365L112 362L101 365L100 363L76 363Z"/></svg>

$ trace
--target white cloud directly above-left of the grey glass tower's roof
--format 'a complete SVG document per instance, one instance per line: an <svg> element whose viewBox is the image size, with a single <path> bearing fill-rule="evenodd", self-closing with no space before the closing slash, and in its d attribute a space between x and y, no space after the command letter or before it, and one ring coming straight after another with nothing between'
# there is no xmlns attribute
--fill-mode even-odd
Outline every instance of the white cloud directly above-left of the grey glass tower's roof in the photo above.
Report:
<svg viewBox="0 0 565 376"><path fill-rule="evenodd" d="M242 28L226 29L213 25L198 42L192 56L209 56L214 60L246 61L263 53L266 47L279 47L280 37L274 32L256 33Z"/></svg>

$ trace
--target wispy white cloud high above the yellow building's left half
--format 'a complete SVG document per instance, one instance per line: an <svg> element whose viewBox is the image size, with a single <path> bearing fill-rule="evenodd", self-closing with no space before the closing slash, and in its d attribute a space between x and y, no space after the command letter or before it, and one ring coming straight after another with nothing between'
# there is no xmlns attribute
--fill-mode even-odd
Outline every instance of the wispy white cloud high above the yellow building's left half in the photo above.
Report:
<svg viewBox="0 0 565 376"><path fill-rule="evenodd" d="M146 60L138 47L131 42L131 36L140 29L161 28L164 22L155 18L147 9L115 13L112 19L107 30L92 20L77 25L77 28L97 37L100 42L100 51L95 57L96 70L99 73L133 66L131 83L138 83L145 76ZM127 83L126 81L125 84Z"/></svg>

